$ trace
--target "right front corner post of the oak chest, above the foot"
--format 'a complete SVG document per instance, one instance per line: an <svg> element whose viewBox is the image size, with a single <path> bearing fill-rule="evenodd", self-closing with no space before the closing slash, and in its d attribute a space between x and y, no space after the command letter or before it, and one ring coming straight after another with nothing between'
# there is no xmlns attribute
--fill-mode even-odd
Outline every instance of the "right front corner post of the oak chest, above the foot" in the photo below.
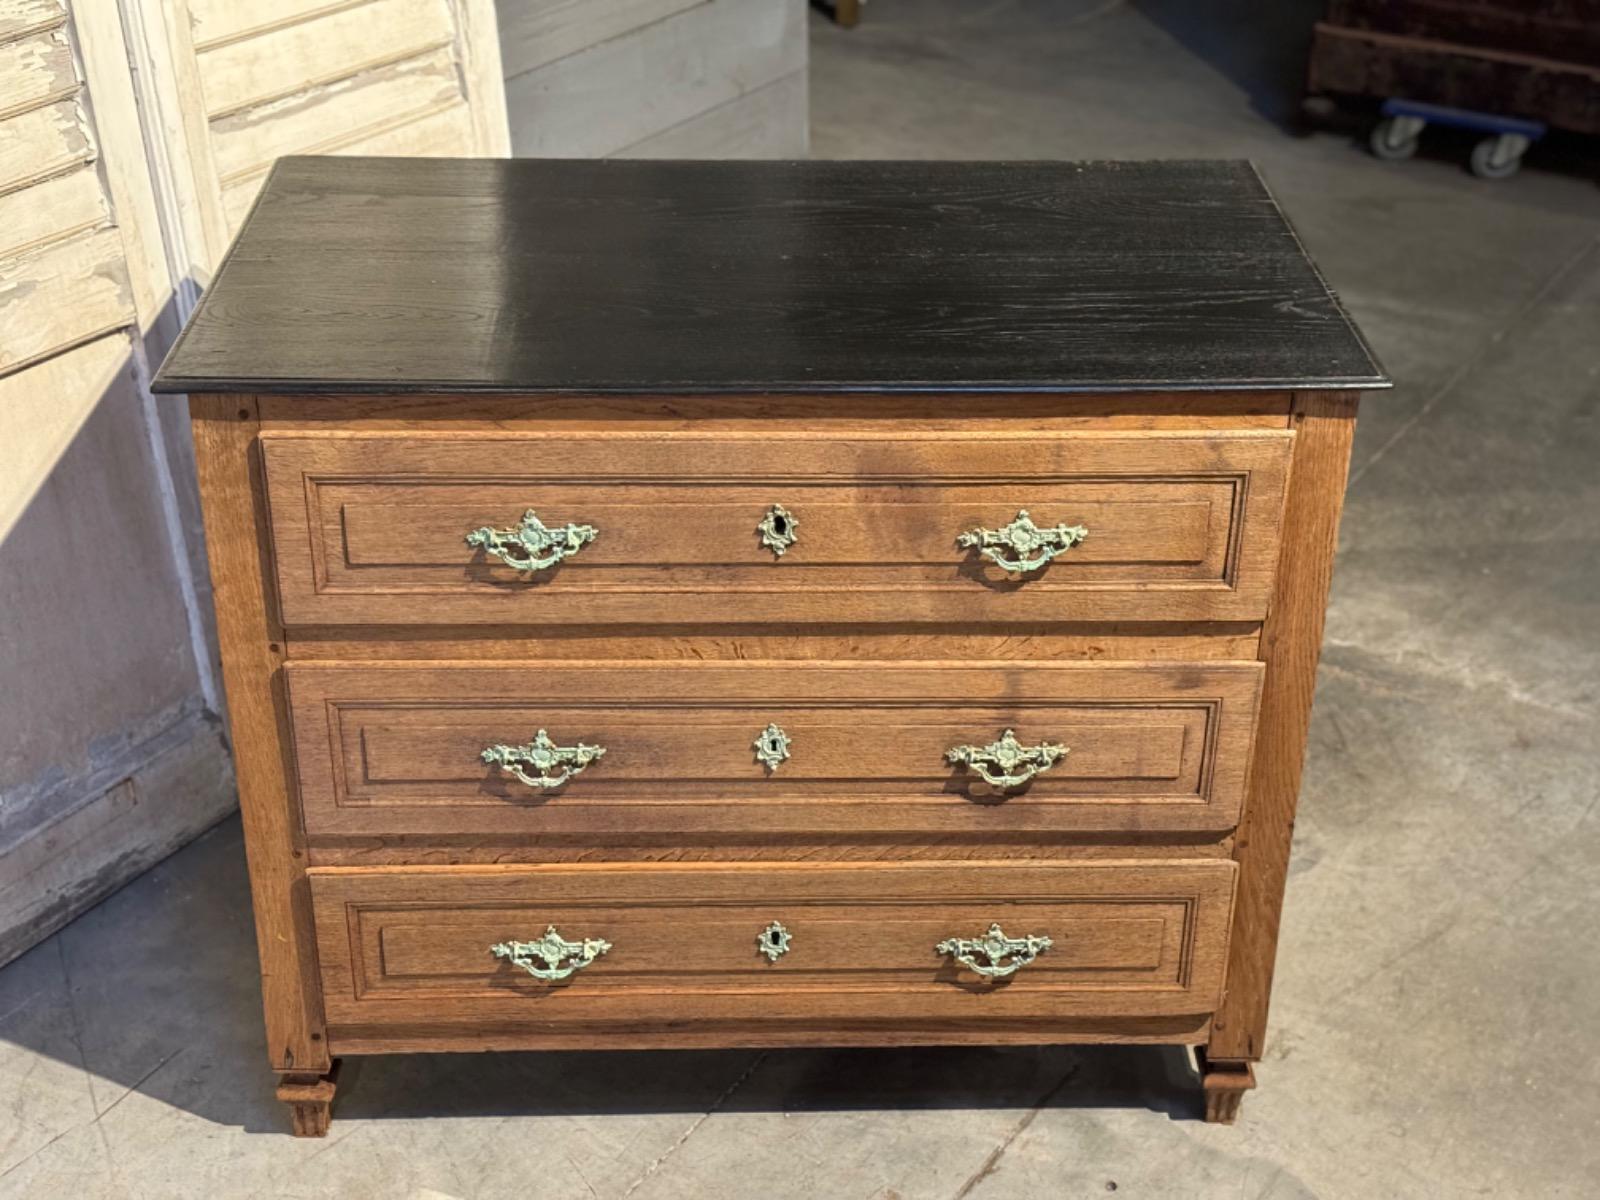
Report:
<svg viewBox="0 0 1600 1200"><path fill-rule="evenodd" d="M1240 867L1238 899L1227 989L1206 1051L1211 1059L1253 1061L1264 1048L1294 806L1306 765L1322 626L1355 435L1355 403L1347 395L1307 392L1294 406L1294 466L1283 515L1283 557L1261 634L1267 678L1245 814L1234 843Z"/></svg>

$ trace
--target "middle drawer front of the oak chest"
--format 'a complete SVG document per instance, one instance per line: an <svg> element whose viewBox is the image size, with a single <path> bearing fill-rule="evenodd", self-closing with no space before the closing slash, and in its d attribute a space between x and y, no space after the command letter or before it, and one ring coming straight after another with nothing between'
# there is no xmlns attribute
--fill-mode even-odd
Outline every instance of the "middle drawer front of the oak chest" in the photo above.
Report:
<svg viewBox="0 0 1600 1200"><path fill-rule="evenodd" d="M1261 691L1256 662L291 662L286 674L314 838L1226 830ZM605 754L557 786L485 760L541 730ZM1030 760L989 757L1006 730ZM979 762L952 762L963 746ZM514 765L534 781L568 770Z"/></svg>

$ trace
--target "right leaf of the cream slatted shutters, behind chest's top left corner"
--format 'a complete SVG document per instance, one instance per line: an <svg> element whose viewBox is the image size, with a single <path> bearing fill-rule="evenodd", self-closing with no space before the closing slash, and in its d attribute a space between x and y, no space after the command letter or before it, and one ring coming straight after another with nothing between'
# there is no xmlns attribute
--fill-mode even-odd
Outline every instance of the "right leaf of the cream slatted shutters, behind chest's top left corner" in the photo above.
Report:
<svg viewBox="0 0 1600 1200"><path fill-rule="evenodd" d="M510 152L493 0L131 0L190 259L291 154Z"/></svg>

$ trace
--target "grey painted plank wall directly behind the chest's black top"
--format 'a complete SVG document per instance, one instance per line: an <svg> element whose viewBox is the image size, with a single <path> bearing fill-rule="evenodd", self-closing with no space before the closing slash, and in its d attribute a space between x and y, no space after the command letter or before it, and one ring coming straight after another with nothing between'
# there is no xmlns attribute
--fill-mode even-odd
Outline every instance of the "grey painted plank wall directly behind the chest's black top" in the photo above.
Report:
<svg viewBox="0 0 1600 1200"><path fill-rule="evenodd" d="M805 0L498 0L512 154L802 158Z"/></svg>

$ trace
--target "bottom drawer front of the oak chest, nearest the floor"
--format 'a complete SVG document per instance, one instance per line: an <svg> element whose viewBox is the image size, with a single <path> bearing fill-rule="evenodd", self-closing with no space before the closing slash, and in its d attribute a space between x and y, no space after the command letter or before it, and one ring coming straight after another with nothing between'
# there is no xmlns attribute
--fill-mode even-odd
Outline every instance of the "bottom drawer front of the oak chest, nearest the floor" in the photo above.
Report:
<svg viewBox="0 0 1600 1200"><path fill-rule="evenodd" d="M1210 1013L1234 874L1219 859L320 867L310 891L336 1043L782 1022L998 1032ZM1014 941L984 947L992 925Z"/></svg>

